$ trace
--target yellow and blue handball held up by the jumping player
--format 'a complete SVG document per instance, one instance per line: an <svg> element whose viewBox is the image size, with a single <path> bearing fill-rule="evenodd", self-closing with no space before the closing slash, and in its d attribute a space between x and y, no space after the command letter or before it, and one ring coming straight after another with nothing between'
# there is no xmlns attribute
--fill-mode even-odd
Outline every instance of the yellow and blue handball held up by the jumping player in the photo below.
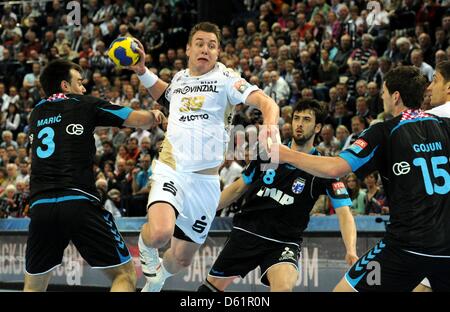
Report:
<svg viewBox="0 0 450 312"><path fill-rule="evenodd" d="M137 47L133 38L120 37L109 46L108 56L117 66L135 65L139 61Z"/></svg>

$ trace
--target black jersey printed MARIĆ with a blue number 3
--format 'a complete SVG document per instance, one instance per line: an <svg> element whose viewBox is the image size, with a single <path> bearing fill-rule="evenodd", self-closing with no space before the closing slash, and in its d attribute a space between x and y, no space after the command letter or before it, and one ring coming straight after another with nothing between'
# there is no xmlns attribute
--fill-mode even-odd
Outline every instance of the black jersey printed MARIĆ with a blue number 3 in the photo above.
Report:
<svg viewBox="0 0 450 312"><path fill-rule="evenodd" d="M97 126L122 126L128 107L86 95L58 94L31 112L31 199L49 191L74 190L98 198L94 178Z"/></svg>

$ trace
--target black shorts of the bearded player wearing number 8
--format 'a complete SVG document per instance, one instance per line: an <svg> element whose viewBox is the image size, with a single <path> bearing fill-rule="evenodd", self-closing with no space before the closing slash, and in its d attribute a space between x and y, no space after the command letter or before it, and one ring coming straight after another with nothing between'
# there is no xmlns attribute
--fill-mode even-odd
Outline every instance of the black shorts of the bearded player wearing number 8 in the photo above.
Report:
<svg viewBox="0 0 450 312"><path fill-rule="evenodd" d="M261 283L269 285L267 270L278 263L291 263L298 271L300 246L293 243L271 241L233 229L223 250L214 262L209 275L217 278L240 276L244 278L258 266Z"/></svg>

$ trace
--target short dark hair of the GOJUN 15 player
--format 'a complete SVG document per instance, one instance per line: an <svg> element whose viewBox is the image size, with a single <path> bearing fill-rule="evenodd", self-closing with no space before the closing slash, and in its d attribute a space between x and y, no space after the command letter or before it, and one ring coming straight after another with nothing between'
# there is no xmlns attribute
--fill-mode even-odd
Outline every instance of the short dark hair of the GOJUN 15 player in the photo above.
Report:
<svg viewBox="0 0 450 312"><path fill-rule="evenodd" d="M404 106L419 108L422 105L428 81L417 67L398 66L386 74L384 81L389 94L400 93Z"/></svg>

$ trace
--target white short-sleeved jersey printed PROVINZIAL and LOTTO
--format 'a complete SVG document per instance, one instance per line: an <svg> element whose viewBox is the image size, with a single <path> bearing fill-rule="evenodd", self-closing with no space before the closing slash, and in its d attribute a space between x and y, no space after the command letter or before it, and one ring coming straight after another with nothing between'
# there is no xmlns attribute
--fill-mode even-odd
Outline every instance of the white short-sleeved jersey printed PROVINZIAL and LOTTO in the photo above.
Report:
<svg viewBox="0 0 450 312"><path fill-rule="evenodd" d="M219 166L234 106L255 90L257 86L222 63L202 76L179 71L165 92L170 114L159 161L181 172Z"/></svg>

